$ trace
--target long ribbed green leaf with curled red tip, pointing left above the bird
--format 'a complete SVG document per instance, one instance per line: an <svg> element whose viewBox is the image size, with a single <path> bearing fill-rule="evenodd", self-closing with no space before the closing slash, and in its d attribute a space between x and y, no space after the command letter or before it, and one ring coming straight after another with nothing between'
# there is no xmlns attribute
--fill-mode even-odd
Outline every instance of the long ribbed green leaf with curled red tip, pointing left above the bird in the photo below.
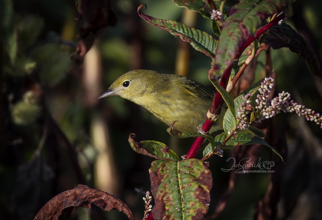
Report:
<svg viewBox="0 0 322 220"><path fill-rule="evenodd" d="M146 22L170 32L172 35L179 36L182 40L189 42L190 45L208 57L215 57L215 49L217 46L217 40L215 40L210 34L204 31L200 31L194 28L191 28L185 24L172 21L172 20L163 20L148 16L138 11L144 4L140 5L137 9L137 13L141 18Z"/></svg>

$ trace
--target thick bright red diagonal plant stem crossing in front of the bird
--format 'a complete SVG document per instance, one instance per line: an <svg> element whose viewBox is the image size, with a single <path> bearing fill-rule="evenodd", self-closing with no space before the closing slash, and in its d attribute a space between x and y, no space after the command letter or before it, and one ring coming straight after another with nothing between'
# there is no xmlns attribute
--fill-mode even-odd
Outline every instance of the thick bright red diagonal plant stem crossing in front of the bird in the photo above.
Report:
<svg viewBox="0 0 322 220"><path fill-rule="evenodd" d="M262 35L265 31L267 31L268 29L270 29L274 24L276 24L277 22L279 22L280 20L285 18L285 14L282 13L279 16L277 16L275 19L273 19L272 21L270 21L269 23L265 24L262 28L260 28L260 30L258 30L253 36L251 36L245 43L244 45L240 48L239 53L236 55L235 59L238 59L242 52L255 40L257 39L260 35ZM226 71L223 74L222 79L220 80L220 85L223 86L223 88L226 89L227 84L228 84L228 80L229 80L229 76L230 73L232 71L232 66L230 66L229 68L226 69ZM215 111L219 110L221 108L221 105L223 104L223 97L221 96L221 94L219 92L216 93L214 99L213 99L213 103L210 107L211 112L210 113L215 113ZM208 132L210 130L210 128L212 127L213 122L211 120L209 120L208 118L206 119L204 126L203 126L203 130L205 132ZM194 143L191 145L190 150L188 151L187 155L186 155L186 159L191 159L191 158L195 158L195 156L197 155L198 151L200 150L201 145L204 143L204 137L197 137L194 140Z"/></svg>

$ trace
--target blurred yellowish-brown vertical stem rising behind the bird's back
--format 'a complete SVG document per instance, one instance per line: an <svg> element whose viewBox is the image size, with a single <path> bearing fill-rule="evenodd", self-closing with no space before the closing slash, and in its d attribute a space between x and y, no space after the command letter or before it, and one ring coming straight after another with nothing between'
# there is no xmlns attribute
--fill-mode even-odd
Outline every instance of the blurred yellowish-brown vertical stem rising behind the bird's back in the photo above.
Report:
<svg viewBox="0 0 322 220"><path fill-rule="evenodd" d="M189 27L194 27L197 21L197 13L190 11L189 9L184 9L182 15L182 23L188 25ZM175 62L175 74L187 76L189 69L189 60L191 46L188 42L179 39L178 50L176 54Z"/></svg>

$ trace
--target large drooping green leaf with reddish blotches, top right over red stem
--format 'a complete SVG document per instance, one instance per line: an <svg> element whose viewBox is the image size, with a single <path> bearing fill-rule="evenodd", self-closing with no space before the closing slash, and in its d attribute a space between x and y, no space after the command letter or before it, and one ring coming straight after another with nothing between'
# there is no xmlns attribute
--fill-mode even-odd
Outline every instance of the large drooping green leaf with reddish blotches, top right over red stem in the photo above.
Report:
<svg viewBox="0 0 322 220"><path fill-rule="evenodd" d="M214 75L225 72L233 64L243 44L256 32L265 19L283 11L289 4L284 0L241 0L230 10L218 42ZM220 72L220 73L219 73Z"/></svg>

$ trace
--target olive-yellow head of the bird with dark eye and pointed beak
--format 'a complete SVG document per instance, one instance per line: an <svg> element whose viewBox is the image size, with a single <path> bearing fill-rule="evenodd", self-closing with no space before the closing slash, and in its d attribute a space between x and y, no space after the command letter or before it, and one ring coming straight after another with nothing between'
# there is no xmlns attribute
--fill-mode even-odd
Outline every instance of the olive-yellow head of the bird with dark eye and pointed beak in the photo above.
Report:
<svg viewBox="0 0 322 220"><path fill-rule="evenodd" d="M133 70L118 77L117 80L104 92L100 98L118 95L124 99L133 101L154 91L154 84L159 73L152 70Z"/></svg>

